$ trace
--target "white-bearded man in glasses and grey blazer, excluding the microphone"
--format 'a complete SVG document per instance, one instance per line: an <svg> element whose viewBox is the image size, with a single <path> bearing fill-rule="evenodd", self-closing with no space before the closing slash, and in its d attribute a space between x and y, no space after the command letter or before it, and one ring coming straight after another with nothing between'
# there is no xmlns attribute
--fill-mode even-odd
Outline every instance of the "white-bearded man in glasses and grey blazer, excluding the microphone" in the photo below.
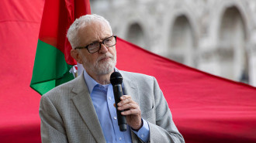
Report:
<svg viewBox="0 0 256 143"><path fill-rule="evenodd" d="M40 100L42 142L184 142L154 77L116 69L116 36L99 15L76 19L67 31L71 56L85 70ZM123 76L118 110L128 128L119 131L110 75Z"/></svg>

